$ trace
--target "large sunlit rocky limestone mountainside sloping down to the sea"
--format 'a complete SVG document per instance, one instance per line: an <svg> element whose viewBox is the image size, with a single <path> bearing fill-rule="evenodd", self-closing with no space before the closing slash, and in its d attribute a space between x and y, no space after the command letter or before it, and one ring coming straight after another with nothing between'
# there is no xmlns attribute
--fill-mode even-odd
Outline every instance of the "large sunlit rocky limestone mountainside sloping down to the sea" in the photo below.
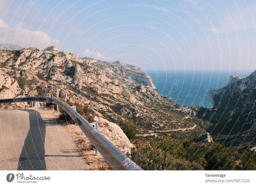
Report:
<svg viewBox="0 0 256 186"><path fill-rule="evenodd" d="M140 138L166 132L175 138L198 137L205 132L194 112L155 91L140 68L120 61L78 58L54 46L0 50L0 71L1 98L53 96L88 104L95 115L108 115L120 126L132 120Z"/></svg>

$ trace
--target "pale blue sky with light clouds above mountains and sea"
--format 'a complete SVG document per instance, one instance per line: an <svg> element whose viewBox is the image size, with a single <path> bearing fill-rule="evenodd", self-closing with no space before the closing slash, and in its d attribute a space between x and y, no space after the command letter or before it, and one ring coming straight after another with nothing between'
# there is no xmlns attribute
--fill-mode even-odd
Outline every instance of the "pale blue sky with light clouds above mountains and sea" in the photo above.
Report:
<svg viewBox="0 0 256 186"><path fill-rule="evenodd" d="M0 44L145 71L254 71L255 10L255 0L0 0Z"/></svg>

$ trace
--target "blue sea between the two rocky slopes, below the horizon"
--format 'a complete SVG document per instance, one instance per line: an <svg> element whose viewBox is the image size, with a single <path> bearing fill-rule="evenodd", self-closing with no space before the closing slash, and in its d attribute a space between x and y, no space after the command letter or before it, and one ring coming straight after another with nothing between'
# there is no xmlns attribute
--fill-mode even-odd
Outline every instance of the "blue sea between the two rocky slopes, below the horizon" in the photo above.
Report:
<svg viewBox="0 0 256 186"><path fill-rule="evenodd" d="M253 71L147 71L156 91L182 106L212 108L210 89L227 85L230 74L245 78Z"/></svg>

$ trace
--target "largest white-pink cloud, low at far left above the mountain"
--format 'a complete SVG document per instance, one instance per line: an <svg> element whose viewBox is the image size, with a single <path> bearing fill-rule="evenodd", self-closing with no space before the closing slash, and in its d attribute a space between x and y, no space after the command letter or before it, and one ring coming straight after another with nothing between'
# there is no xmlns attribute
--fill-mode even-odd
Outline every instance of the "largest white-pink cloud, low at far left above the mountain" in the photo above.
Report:
<svg viewBox="0 0 256 186"><path fill-rule="evenodd" d="M2 19L0 19L0 42L2 44L16 44L22 47L37 47L40 49L60 45L59 40L52 40L45 32L28 30L19 27L19 25L11 27Z"/></svg>

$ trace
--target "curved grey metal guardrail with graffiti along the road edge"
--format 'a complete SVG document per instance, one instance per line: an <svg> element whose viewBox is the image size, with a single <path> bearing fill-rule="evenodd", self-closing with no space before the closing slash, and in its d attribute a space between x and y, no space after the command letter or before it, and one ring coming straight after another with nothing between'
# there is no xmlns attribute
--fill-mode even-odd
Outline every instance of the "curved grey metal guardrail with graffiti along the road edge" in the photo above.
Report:
<svg viewBox="0 0 256 186"><path fill-rule="evenodd" d="M49 102L63 108L114 170L143 170L123 152L121 152L115 145L113 145L107 138L100 134L100 132L92 127L92 125L86 119L84 119L83 116L71 108L67 103L64 103L57 98L39 96L9 98L0 100L0 104L27 101Z"/></svg>

